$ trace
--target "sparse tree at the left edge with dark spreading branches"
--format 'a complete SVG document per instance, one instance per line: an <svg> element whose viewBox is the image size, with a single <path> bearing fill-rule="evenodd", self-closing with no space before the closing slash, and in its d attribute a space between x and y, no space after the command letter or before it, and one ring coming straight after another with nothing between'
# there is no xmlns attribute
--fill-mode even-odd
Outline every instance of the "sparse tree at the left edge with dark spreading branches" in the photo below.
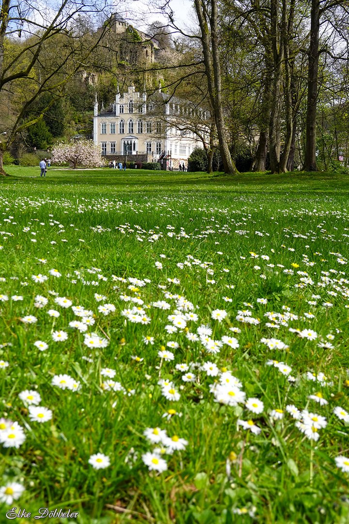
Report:
<svg viewBox="0 0 349 524"><path fill-rule="evenodd" d="M28 119L32 103L43 93L62 96L66 82L86 67L102 38L87 41L78 16L104 9L104 0L60 0L47 9L30 0L0 0L0 133L6 132L0 143L0 174L5 174L3 152L43 117L55 98Z"/></svg>

